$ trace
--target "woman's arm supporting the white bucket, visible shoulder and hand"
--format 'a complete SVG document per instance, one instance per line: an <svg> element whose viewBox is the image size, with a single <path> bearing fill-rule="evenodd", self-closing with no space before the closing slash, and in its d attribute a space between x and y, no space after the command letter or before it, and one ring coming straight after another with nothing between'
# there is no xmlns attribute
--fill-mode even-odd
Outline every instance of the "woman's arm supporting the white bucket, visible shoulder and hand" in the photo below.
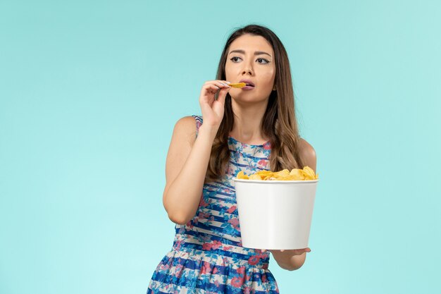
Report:
<svg viewBox="0 0 441 294"><path fill-rule="evenodd" d="M300 140L300 157L302 157L305 166L309 166L316 172L316 151L303 139ZM271 253L282 269L294 271L302 267L306 259L306 252L310 251L309 248L305 248L300 250L271 250Z"/></svg>

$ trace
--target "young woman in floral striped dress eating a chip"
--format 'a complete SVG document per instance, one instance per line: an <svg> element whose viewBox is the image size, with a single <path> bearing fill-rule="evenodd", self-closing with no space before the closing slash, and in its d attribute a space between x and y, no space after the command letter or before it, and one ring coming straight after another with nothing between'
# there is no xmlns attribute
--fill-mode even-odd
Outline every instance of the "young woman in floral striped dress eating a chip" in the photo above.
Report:
<svg viewBox="0 0 441 294"><path fill-rule="evenodd" d="M239 171L306 165L316 171L316 153L299 137L280 39L259 25L233 32L217 80L205 82L199 104L202 116L181 118L173 130L163 204L176 234L147 293L278 293L270 252L280 267L294 270L311 250L242 247L232 179Z"/></svg>

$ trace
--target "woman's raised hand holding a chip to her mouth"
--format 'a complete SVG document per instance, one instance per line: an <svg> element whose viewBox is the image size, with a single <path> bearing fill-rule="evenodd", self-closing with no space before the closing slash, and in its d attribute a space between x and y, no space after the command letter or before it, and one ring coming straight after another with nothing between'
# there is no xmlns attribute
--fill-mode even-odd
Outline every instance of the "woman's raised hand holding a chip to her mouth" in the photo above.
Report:
<svg viewBox="0 0 441 294"><path fill-rule="evenodd" d="M218 128L223 118L225 96L231 87L225 80L209 80L204 83L199 96L204 125ZM218 92L218 99L214 99Z"/></svg>

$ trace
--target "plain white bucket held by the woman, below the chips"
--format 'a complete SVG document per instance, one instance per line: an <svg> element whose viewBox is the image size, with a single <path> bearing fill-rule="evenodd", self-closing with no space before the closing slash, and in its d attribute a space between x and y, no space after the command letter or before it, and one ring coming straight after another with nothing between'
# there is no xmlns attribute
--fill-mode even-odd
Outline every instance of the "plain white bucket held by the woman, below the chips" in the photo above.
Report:
<svg viewBox="0 0 441 294"><path fill-rule="evenodd" d="M242 246L275 250L308 247L317 183L235 178Z"/></svg>

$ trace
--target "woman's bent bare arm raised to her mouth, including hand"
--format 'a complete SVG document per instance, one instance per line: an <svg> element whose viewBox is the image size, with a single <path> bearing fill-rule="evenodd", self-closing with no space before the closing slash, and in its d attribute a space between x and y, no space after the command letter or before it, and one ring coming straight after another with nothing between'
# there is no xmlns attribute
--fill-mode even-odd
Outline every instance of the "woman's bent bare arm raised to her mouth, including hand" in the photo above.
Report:
<svg viewBox="0 0 441 294"><path fill-rule="evenodd" d="M192 116L181 118L175 125L166 160L166 188L163 204L168 218L185 224L197 212L201 201L211 146L223 119L227 82L210 80L204 83L199 97L204 123L196 137L196 121ZM218 99L215 99L218 93Z"/></svg>

